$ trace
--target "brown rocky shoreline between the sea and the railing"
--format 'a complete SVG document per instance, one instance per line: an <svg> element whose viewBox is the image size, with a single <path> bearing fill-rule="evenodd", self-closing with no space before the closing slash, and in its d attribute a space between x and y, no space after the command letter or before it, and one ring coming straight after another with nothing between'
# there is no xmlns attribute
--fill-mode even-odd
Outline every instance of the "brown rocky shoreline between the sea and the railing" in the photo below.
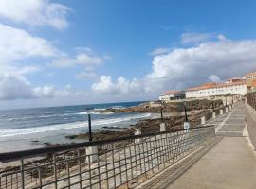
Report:
<svg viewBox="0 0 256 189"><path fill-rule="evenodd" d="M221 100L193 100L187 101L186 106L188 110L188 118L191 124L191 127L195 127L200 123L200 117L202 115L207 115L212 112L212 103L215 108L222 106ZM160 107L164 112L165 116L163 122L166 124L167 131L176 130L176 129L183 129L183 123L185 121L184 115L184 102L173 102L173 103L165 103L159 104L158 102L145 102L139 104L135 107L129 107L125 109L106 109L99 112L151 112L151 113L159 113ZM171 115L172 114L172 115ZM101 131L93 132L93 140L106 140L106 139L113 139L119 138L124 136L131 136L134 134L136 129L140 129L142 133L152 133L158 132L159 126L161 123L160 118L154 119L145 119L137 122L135 125L131 125L127 128L119 128L119 127L102 127ZM75 135L67 135L65 136L66 139L70 140L71 142L75 139L79 139L82 141L88 141L89 133L83 132L80 134ZM45 143L46 147L51 146L62 146L64 144L49 144Z"/></svg>

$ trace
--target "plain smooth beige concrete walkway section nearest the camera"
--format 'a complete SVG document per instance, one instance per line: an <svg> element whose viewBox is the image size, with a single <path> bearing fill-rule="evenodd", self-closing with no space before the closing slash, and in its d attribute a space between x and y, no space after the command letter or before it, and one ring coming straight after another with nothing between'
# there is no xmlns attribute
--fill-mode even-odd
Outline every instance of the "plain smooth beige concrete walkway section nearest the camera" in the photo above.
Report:
<svg viewBox="0 0 256 189"><path fill-rule="evenodd" d="M225 137L168 189L255 189L256 155L245 137Z"/></svg>

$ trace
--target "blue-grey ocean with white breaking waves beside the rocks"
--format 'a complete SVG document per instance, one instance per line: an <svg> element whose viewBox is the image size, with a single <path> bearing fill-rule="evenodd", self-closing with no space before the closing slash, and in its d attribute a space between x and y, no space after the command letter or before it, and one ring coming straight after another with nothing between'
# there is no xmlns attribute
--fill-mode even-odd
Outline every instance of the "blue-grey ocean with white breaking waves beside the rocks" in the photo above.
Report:
<svg viewBox="0 0 256 189"><path fill-rule="evenodd" d="M129 127L151 113L100 113L107 108L121 109L142 102L108 103L64 107L33 108L0 111L0 153L45 146L44 143L82 142L69 140L66 135L88 131L86 109L91 108L92 130L102 127Z"/></svg>

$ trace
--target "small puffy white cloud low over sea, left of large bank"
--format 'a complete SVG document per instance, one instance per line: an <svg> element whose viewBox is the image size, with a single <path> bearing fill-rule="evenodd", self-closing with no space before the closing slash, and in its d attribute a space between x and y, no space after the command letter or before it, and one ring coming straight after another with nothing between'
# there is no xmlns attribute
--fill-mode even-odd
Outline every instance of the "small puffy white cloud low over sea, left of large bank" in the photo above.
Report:
<svg viewBox="0 0 256 189"><path fill-rule="evenodd" d="M124 77L119 77L116 82L113 82L110 76L101 76L98 83L92 85L92 90L102 94L128 94L139 93L139 81L134 78L127 80Z"/></svg>

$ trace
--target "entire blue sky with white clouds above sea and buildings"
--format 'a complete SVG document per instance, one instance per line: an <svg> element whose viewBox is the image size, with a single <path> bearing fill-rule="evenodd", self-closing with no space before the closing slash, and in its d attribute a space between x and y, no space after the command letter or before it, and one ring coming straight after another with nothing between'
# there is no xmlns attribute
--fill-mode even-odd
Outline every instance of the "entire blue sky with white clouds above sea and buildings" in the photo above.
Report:
<svg viewBox="0 0 256 189"><path fill-rule="evenodd" d="M157 99L256 68L254 0L0 0L0 109Z"/></svg>

